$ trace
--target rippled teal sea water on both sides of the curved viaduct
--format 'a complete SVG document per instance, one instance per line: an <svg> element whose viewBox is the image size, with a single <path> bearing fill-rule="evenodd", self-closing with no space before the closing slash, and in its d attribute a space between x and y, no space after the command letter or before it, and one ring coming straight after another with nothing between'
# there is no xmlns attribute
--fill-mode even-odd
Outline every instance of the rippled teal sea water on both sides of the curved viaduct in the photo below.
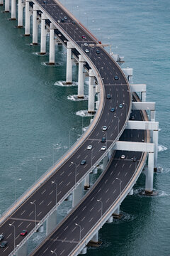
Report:
<svg viewBox="0 0 170 256"><path fill-rule="evenodd" d="M125 56L123 68L133 68L133 82L147 84L147 101L157 102L159 121L158 166L162 173L154 174L154 189L158 196L140 196L145 187L141 175L135 193L121 206L123 218L103 226L98 249L87 256L169 256L170 255L170 2L169 0L62 0L112 51ZM14 28L10 14L0 8L0 214L62 156L70 144L81 135L78 116L87 102L68 100L77 87L58 86L65 80L66 52L56 46L55 67L43 65L48 56L35 53L40 47L30 47L31 38L24 30ZM40 39L40 38L39 38ZM109 48L108 48L109 50ZM77 81L77 67L74 66ZM87 92L87 86L85 88ZM75 128L75 129L72 129ZM41 160L40 160L41 159ZM21 179L21 180L19 180ZM60 208L63 216L70 205ZM29 250L42 239L36 234Z"/></svg>

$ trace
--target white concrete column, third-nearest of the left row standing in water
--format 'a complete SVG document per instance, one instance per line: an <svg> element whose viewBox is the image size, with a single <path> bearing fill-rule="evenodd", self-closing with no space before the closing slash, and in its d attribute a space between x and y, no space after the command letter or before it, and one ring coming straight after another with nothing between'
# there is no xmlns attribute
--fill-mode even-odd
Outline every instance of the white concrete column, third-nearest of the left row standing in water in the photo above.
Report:
<svg viewBox="0 0 170 256"><path fill-rule="evenodd" d="M72 85L72 48L71 42L67 42L67 68L66 68L66 83Z"/></svg>

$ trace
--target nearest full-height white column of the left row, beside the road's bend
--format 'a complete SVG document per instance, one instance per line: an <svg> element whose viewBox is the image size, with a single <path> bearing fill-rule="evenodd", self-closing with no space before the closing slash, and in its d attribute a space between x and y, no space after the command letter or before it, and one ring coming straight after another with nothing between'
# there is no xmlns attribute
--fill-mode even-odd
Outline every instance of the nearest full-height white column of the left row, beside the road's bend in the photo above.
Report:
<svg viewBox="0 0 170 256"><path fill-rule="evenodd" d="M88 100L88 112L94 114L94 73L89 70L89 100Z"/></svg>

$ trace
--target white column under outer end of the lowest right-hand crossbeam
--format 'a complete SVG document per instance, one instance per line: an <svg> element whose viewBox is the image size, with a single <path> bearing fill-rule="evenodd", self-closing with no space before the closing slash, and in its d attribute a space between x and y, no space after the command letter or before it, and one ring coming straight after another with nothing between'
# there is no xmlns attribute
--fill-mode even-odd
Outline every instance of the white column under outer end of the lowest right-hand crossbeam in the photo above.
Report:
<svg viewBox="0 0 170 256"><path fill-rule="evenodd" d="M146 171L145 193L152 193L154 179L154 152L149 152L148 169Z"/></svg>

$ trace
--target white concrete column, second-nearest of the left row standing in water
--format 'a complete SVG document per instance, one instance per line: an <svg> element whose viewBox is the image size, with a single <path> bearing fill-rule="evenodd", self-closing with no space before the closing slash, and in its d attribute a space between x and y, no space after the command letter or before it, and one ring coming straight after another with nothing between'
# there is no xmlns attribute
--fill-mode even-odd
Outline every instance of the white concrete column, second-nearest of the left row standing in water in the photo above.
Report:
<svg viewBox="0 0 170 256"><path fill-rule="evenodd" d="M78 97L84 98L84 58L79 55Z"/></svg>

